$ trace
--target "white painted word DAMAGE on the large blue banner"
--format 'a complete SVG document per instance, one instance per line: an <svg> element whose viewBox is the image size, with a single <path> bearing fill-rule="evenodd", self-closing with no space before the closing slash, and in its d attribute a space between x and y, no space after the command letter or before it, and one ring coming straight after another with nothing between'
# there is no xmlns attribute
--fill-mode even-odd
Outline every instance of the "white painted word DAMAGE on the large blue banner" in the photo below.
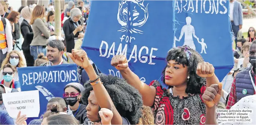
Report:
<svg viewBox="0 0 256 125"><path fill-rule="evenodd" d="M101 57L106 57L109 58L111 55L114 57L115 55L125 55L127 56L127 44L124 45L124 48L122 48L122 43L119 44L117 52L115 51L115 42L112 43L111 47L109 48L109 44L106 41L101 42L100 47L99 47L99 53ZM105 48L103 48L103 45L105 45ZM105 50L105 53L103 54L103 50ZM156 58L156 56L153 55L153 51L157 51L158 48L151 48L150 54L149 54L149 48L146 46L143 46L139 49L139 53L137 55L137 45L134 45L131 55L129 56L128 62L131 61L131 59L134 59L134 62L137 62L138 59L141 63L147 63L148 58L149 58L149 65L155 65L156 63L152 62L152 58ZM146 51L145 54L149 54L148 56L143 55L142 56L142 51ZM116 52L116 54L115 54Z"/></svg>

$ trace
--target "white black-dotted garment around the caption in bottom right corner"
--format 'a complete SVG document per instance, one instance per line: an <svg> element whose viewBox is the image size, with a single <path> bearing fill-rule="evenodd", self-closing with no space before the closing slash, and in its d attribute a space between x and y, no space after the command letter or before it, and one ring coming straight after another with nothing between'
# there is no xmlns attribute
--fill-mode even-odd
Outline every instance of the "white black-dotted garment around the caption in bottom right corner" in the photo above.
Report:
<svg viewBox="0 0 256 125"><path fill-rule="evenodd" d="M233 105L230 110L236 109L248 109L252 110L248 116L251 122L222 122L219 125L255 125L256 124L256 95L249 95L240 99L235 105Z"/></svg>

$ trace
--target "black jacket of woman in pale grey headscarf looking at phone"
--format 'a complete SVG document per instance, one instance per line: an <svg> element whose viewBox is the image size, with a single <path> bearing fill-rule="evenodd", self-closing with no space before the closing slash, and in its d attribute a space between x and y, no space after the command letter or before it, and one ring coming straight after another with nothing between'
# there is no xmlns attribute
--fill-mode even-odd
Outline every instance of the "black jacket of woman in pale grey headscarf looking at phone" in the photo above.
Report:
<svg viewBox="0 0 256 125"><path fill-rule="evenodd" d="M76 29L74 24L75 23L71 20L71 18L67 19L63 24L67 52L72 52L72 49L75 47L74 38L78 38L79 35L79 32L77 32L76 35L73 34L73 31ZM78 20L78 24L82 25L80 20Z"/></svg>

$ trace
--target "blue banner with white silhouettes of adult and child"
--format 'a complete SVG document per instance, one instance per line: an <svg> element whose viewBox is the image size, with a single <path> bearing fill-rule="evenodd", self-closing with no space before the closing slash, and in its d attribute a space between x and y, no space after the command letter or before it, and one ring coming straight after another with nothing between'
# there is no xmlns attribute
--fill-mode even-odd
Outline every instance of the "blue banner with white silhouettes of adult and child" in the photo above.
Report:
<svg viewBox="0 0 256 125"><path fill-rule="evenodd" d="M187 45L215 67L219 81L233 68L228 0L175 0L173 47Z"/></svg>

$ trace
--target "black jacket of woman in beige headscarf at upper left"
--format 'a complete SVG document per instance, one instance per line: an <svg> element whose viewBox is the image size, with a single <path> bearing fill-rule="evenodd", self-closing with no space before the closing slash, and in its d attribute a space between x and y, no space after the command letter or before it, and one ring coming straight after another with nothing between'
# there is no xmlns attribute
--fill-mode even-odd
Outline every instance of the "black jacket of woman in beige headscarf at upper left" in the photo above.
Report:
<svg viewBox="0 0 256 125"><path fill-rule="evenodd" d="M22 50L23 51L30 51L30 43L33 40L33 30L29 23L24 19L21 23L21 34L24 38L23 44L22 44Z"/></svg>

